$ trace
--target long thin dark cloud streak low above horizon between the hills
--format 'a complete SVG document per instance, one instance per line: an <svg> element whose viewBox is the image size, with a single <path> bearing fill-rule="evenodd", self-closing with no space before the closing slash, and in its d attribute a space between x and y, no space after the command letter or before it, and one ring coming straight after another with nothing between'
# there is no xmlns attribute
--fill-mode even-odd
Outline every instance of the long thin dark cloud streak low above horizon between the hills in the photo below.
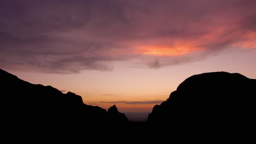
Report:
<svg viewBox="0 0 256 144"><path fill-rule="evenodd" d="M90 104L131 104L131 105L141 105L141 104L160 104L164 100L152 100L152 101L99 101L97 103Z"/></svg>

